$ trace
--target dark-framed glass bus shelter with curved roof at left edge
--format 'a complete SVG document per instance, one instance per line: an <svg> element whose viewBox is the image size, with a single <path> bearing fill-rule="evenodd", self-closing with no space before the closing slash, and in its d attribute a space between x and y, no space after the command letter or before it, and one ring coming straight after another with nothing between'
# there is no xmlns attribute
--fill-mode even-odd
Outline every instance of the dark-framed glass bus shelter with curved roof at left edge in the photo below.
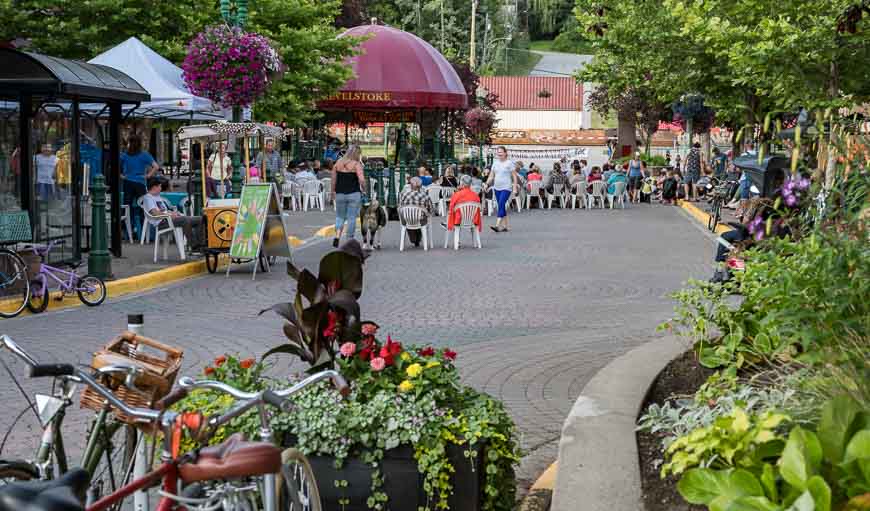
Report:
<svg viewBox="0 0 870 511"><path fill-rule="evenodd" d="M0 243L55 241L52 260L79 260L90 247L89 185L102 174L120 255L122 112L150 99L116 69L0 49ZM87 135L88 123L108 128L105 146Z"/></svg>

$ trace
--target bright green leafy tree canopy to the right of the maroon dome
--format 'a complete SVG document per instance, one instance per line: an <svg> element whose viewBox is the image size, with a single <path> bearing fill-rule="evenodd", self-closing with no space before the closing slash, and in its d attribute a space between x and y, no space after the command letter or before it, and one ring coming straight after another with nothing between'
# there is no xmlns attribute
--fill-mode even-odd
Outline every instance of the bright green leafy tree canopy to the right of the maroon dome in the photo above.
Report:
<svg viewBox="0 0 870 511"><path fill-rule="evenodd" d="M716 122L733 127L771 111L860 104L870 99L870 37L860 18L854 32L843 29L854 4L577 0L575 16L595 55L579 78L607 87L611 99L672 105L700 94Z"/></svg>

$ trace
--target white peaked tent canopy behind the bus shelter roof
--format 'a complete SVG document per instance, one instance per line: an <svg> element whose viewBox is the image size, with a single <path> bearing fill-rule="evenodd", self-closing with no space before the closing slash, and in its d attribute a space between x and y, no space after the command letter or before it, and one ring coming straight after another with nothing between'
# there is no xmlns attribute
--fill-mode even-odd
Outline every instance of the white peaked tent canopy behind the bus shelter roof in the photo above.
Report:
<svg viewBox="0 0 870 511"><path fill-rule="evenodd" d="M218 105L190 92L181 77L180 67L136 37L127 39L88 62L126 73L151 94L151 101L139 105L133 112L134 116L198 120L224 118L224 111Z"/></svg>

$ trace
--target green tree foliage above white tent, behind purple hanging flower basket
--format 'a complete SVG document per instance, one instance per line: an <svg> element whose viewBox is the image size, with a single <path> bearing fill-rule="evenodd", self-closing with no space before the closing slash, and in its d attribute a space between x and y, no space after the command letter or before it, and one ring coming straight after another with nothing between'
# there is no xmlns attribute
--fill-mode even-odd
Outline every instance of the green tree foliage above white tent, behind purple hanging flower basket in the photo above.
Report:
<svg viewBox="0 0 870 511"><path fill-rule="evenodd" d="M287 73L254 106L260 118L301 122L319 98L349 77L342 65L355 41L336 39L339 0L253 0L246 30L272 39ZM0 0L0 40L31 42L34 51L88 60L136 36L176 64L187 43L220 23L217 1Z"/></svg>

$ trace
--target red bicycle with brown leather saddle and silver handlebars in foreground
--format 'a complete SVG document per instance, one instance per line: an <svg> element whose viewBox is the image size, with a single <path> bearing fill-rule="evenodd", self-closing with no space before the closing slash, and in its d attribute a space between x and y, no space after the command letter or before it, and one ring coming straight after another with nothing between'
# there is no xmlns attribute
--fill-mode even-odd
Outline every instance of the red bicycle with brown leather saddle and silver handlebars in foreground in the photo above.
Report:
<svg viewBox="0 0 870 511"><path fill-rule="evenodd" d="M106 399L108 404L125 415L156 425L163 434L161 465L148 474L130 481L113 493L90 503L87 511L105 511L120 505L133 493L158 485L161 499L157 511L188 509L211 511L224 509L253 510L261 497L264 511L320 511L320 499L311 467L305 457L295 449L281 451L271 442L244 442L241 435L228 438L221 444L185 454L178 454L182 430L190 431L201 443L222 425L257 407L261 420L261 438L271 439L266 404L287 409L287 398L321 380L330 379L347 395L349 387L335 371L322 371L309 376L288 389L248 393L217 381L196 381L182 378L178 388L155 405L155 409L132 408L118 399L109 389L98 383L87 372L69 364L34 364L34 376L71 378L84 383ZM186 397L189 389L209 388L227 392L243 399L223 415L206 420L198 412L179 413L168 410ZM281 480L277 475L281 474ZM179 487L179 482L181 487ZM280 482L280 485L278 484ZM60 483L64 486L64 483ZM0 491L20 497L22 508L27 499L38 499L40 487L27 482L7 485ZM68 485L68 487L71 486ZM28 488L32 488L28 490ZM179 491L183 490L183 491Z"/></svg>

